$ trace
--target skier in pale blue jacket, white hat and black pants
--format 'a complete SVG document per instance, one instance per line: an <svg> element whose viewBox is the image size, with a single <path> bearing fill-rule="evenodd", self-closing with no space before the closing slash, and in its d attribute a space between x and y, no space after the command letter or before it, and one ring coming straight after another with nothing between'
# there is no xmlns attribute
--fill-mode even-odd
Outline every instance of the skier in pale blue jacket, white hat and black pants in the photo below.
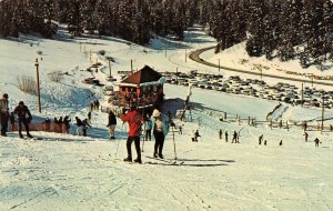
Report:
<svg viewBox="0 0 333 211"><path fill-rule="evenodd" d="M160 157L161 159L163 159L164 139L169 132L168 117L161 113L158 109L154 109L151 120L152 120L153 134L155 138L153 157L154 158Z"/></svg>

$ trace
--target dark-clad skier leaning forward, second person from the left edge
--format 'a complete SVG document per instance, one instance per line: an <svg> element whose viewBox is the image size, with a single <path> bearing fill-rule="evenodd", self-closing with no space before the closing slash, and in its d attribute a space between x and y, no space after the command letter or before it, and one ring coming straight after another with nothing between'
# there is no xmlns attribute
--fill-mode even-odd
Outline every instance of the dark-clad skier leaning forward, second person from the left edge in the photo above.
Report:
<svg viewBox="0 0 333 211"><path fill-rule="evenodd" d="M19 120L19 135L21 139L23 139L22 135L22 123L24 124L26 131L27 131L27 137L28 138L33 138L30 132L29 132L29 123L32 120L32 115L28 109L27 105L24 105L23 101L19 102L19 105L16 107L14 111L13 111L17 115L18 115L18 120Z"/></svg>

